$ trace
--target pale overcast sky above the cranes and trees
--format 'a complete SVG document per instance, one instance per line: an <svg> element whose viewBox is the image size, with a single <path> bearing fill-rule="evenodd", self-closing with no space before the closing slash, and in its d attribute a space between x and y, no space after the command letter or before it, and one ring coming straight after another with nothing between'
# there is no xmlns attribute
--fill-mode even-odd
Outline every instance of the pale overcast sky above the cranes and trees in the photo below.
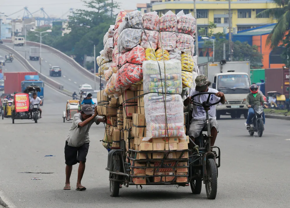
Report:
<svg viewBox="0 0 290 208"><path fill-rule="evenodd" d="M149 3L150 0L116 0L120 3L121 9L136 9L137 3ZM33 13L43 7L44 11L51 16L60 17L65 14L70 8L84 9L83 3L80 0L12 0L2 1L0 4L0 12L5 12L5 15L13 14L23 7L27 6L28 10ZM24 10L18 12L11 17L23 17ZM40 12L35 13L35 16Z"/></svg>

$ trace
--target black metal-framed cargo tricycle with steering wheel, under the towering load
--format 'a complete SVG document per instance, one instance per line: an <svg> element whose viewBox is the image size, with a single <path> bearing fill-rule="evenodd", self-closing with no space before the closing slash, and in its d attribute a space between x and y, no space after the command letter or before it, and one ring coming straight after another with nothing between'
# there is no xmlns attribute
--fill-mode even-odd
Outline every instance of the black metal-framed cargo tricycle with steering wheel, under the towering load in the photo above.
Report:
<svg viewBox="0 0 290 208"><path fill-rule="evenodd" d="M207 101L203 103L194 101L193 105L208 109L220 103L220 101L213 104L209 102L210 96L215 94L211 92L198 93L192 98L202 94L209 95ZM190 112L189 115L191 116ZM170 150L169 142L165 144L168 145L168 148L165 148L168 150L139 151L134 149L132 143L134 137L131 137L131 127L128 132L128 138L125 138L126 141L121 140L119 149L111 149L108 154L106 170L110 172L110 196L119 196L120 184L125 187L136 185L141 188L142 185L179 185L185 187L190 184L192 193L200 194L203 182L207 198L215 199L218 184L218 167L220 167L220 148L211 146L208 110L206 110L206 119L207 127L202 131L207 131L207 135L200 133L197 139L200 146L197 146L187 137L186 142L190 143L189 149L184 148L183 150ZM190 120L190 118L187 119L187 129ZM218 154L212 150L214 148L218 149ZM153 154L156 153L161 153L162 157L153 157ZM172 153L176 157L170 157L169 155ZM140 154L143 155L144 159L140 159ZM216 162L217 160L218 163ZM140 166L140 162L143 165Z"/></svg>

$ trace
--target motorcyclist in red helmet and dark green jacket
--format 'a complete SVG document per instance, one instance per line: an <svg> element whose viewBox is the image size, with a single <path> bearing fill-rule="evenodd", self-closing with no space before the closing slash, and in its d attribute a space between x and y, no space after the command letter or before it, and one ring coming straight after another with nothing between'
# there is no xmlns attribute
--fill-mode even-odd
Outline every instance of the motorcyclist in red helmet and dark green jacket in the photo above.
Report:
<svg viewBox="0 0 290 208"><path fill-rule="evenodd" d="M253 118L253 116L255 114L254 109L251 108L251 106L261 105L261 103L262 103L262 104L264 104L265 108L268 108L268 106L265 105L266 102L264 101L263 96L260 93L258 93L258 85L255 85L255 84L251 85L250 86L250 91L251 91L251 93L249 93L247 95L247 98L246 98L246 105L249 108L249 111L248 111L249 115L248 115L248 119L247 119L247 122L246 122L247 123L247 128L250 127L250 124L252 122L252 118ZM263 112L262 116L263 116L263 123L265 125L265 114L264 114L264 112Z"/></svg>

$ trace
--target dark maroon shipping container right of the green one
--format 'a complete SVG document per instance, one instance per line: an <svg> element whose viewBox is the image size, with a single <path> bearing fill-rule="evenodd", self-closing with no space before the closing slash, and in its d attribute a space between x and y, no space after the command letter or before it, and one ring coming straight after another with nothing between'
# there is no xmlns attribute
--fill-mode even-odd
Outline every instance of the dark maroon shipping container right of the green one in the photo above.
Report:
<svg viewBox="0 0 290 208"><path fill-rule="evenodd" d="M265 69L265 93L269 91L277 91L289 98L289 70Z"/></svg>

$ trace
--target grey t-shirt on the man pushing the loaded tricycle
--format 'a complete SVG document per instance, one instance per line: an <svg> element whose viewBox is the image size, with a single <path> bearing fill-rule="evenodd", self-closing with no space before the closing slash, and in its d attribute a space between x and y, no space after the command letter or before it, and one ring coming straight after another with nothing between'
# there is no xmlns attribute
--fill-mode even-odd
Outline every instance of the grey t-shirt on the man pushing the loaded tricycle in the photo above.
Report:
<svg viewBox="0 0 290 208"><path fill-rule="evenodd" d="M68 142L68 146L71 147L79 147L84 143L90 142L89 139L89 130L91 125L95 122L97 125L100 123L98 119L102 118L101 116L96 116L90 123L85 125L84 127L78 126L80 122L84 120L81 117L81 113L76 113L73 116L73 123L70 126L70 130L68 130L68 136L66 137L66 141Z"/></svg>

